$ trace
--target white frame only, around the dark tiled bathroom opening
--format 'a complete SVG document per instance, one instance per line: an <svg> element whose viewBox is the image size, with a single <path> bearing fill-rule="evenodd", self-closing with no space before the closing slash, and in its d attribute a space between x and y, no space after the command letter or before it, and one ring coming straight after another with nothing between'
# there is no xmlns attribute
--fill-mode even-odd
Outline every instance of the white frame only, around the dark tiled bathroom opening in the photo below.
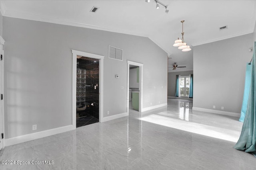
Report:
<svg viewBox="0 0 256 170"><path fill-rule="evenodd" d="M99 121L103 121L103 60L104 56L86 53L82 51L72 50L72 126L76 129L76 56L88 57L92 59L99 59L100 72L99 72Z"/></svg>

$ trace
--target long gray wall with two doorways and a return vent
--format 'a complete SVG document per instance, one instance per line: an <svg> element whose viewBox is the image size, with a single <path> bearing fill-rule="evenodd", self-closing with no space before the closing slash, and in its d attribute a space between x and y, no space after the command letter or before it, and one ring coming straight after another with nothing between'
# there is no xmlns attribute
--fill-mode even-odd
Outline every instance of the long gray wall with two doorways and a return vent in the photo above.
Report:
<svg viewBox="0 0 256 170"><path fill-rule="evenodd" d="M3 31L6 139L72 124L71 49L105 56L104 117L126 112L127 60L144 64L142 108L167 103L166 53L146 37L8 17Z"/></svg>

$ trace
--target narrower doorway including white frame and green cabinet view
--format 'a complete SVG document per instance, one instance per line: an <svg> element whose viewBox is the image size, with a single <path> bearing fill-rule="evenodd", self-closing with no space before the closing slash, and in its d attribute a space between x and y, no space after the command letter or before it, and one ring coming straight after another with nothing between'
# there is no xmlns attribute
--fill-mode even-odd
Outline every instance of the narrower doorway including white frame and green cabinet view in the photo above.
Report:
<svg viewBox="0 0 256 170"><path fill-rule="evenodd" d="M142 70L142 63L127 61L127 113L142 109Z"/></svg>

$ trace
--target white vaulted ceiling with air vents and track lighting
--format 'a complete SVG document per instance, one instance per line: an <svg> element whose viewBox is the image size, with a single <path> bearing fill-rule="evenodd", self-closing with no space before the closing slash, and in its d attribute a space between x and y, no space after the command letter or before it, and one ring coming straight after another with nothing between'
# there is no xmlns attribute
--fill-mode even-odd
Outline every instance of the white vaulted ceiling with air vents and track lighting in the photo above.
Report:
<svg viewBox="0 0 256 170"><path fill-rule="evenodd" d="M252 33L256 21L256 0L160 0L169 13L151 0L1 0L3 16L46 21L127 33L150 38L178 66L173 71L193 70L193 46ZM99 7L91 13L93 6ZM192 48L182 52L173 47L181 38ZM219 31L219 27L228 29Z"/></svg>

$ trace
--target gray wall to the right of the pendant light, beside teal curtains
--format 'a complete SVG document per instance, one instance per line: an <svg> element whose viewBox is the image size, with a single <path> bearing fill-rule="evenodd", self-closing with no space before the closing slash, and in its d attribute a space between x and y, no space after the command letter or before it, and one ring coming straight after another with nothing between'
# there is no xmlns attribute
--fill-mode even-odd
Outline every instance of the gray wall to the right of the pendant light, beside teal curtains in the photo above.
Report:
<svg viewBox="0 0 256 170"><path fill-rule="evenodd" d="M194 107L240 113L252 39L251 33L194 47Z"/></svg>

